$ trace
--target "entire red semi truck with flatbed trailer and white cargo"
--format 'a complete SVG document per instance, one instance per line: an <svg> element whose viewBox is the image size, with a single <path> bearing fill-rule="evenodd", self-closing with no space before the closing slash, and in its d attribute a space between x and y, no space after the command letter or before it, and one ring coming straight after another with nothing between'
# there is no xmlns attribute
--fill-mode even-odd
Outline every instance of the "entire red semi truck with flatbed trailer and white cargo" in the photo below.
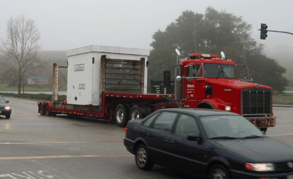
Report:
<svg viewBox="0 0 293 179"><path fill-rule="evenodd" d="M197 53L178 57L175 94L146 94L148 55L148 50L106 46L67 51L67 97L58 101L54 64L53 100L39 101L38 112L102 118L124 127L128 120L180 106L241 114L263 131L275 126L272 88L237 80L232 60Z"/></svg>

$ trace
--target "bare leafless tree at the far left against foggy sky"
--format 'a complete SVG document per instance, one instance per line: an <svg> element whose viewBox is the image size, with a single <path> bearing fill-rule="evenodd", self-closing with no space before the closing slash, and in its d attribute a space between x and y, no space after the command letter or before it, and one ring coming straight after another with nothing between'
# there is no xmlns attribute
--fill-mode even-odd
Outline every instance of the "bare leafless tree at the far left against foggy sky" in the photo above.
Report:
<svg viewBox="0 0 293 179"><path fill-rule="evenodd" d="M24 15L7 21L7 37L2 39L2 51L6 54L6 74L15 77L20 94L24 75L40 67L37 50L40 33L32 19Z"/></svg>

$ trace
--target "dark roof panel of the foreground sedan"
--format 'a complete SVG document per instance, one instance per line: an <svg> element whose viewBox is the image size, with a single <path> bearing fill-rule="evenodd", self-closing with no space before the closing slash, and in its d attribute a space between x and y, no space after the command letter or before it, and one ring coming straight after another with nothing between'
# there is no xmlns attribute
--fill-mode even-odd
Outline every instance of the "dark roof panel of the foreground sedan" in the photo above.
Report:
<svg viewBox="0 0 293 179"><path fill-rule="evenodd" d="M179 112L185 114L191 114L195 116L207 116L207 115L239 115L227 111L222 110L214 110L214 109L203 109L203 108L167 108L161 109L160 111L170 111L170 112Z"/></svg>

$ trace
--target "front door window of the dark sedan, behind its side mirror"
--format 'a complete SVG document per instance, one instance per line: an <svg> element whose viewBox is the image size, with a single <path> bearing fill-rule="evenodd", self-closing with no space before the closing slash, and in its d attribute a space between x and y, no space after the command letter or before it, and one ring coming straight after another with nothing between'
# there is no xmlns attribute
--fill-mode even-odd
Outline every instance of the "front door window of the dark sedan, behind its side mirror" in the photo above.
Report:
<svg viewBox="0 0 293 179"><path fill-rule="evenodd" d="M181 114L175 127L175 134L187 137L188 134L199 134L195 118L190 115Z"/></svg>

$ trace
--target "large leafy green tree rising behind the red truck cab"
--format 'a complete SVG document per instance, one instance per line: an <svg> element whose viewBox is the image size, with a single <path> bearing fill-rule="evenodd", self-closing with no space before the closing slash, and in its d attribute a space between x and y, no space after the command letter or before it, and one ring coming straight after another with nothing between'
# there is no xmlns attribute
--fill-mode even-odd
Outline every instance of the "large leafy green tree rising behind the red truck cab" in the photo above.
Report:
<svg viewBox="0 0 293 179"><path fill-rule="evenodd" d="M263 46L251 38L251 29L241 16L218 12L212 7L208 7L205 14L184 11L165 31L158 30L153 34L148 79L163 80L164 70L174 74L176 48L182 56L195 52L220 55L224 51L237 64L249 65L254 82L272 86L276 91L284 90L287 85L283 77L285 68L263 55Z"/></svg>

